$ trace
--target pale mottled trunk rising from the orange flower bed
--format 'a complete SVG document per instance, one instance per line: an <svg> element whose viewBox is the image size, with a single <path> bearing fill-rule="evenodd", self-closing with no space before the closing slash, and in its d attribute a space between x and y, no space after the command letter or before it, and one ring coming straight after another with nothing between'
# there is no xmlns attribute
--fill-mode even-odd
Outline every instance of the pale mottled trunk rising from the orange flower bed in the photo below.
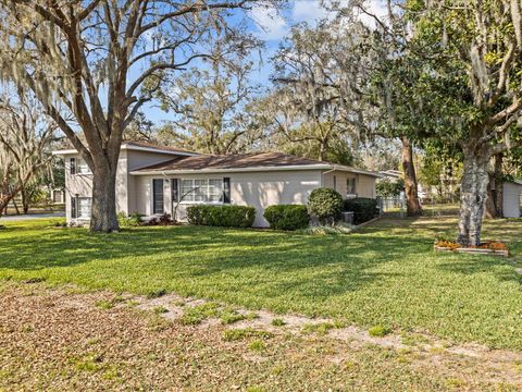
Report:
<svg viewBox="0 0 522 392"><path fill-rule="evenodd" d="M460 191L460 220L457 242L462 245L481 245L482 221L489 182L487 147L464 148L464 171Z"/></svg>

